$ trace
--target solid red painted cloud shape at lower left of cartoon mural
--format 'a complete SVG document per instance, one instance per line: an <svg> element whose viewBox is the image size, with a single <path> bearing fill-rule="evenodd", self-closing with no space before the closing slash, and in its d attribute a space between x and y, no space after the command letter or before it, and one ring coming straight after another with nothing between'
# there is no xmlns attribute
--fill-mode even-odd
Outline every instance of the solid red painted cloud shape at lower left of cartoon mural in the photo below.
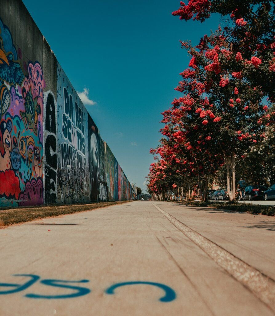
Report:
<svg viewBox="0 0 275 316"><path fill-rule="evenodd" d="M20 194L19 179L13 170L0 171L0 196L15 197Z"/></svg>

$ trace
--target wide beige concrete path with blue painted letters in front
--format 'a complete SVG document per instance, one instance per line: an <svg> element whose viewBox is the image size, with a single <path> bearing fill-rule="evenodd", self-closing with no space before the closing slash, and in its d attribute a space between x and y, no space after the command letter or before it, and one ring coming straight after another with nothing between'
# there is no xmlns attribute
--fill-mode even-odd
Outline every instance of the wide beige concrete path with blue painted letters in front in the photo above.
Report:
<svg viewBox="0 0 275 316"><path fill-rule="evenodd" d="M0 230L0 315L275 314L274 217L137 201Z"/></svg>

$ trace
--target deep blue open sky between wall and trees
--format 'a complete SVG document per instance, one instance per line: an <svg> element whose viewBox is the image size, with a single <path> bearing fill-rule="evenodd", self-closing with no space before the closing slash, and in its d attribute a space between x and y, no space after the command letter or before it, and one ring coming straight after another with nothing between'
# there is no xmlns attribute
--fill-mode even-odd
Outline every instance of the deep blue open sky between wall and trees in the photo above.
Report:
<svg viewBox="0 0 275 316"><path fill-rule="evenodd" d="M194 45L219 24L180 21L174 0L23 0L129 181L142 188L158 145L161 112L179 93L189 63L179 40ZM90 102L90 103L93 103Z"/></svg>

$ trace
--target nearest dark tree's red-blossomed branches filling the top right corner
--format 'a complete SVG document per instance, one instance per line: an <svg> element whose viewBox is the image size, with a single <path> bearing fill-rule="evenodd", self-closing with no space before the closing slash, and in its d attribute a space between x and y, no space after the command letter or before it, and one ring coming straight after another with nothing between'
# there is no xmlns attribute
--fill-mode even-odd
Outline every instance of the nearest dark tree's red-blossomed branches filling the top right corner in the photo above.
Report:
<svg viewBox="0 0 275 316"><path fill-rule="evenodd" d="M240 73L251 86L258 87L274 101L274 12L274 1L189 0L187 4L180 2L180 8L172 14L181 20L193 18L201 22L212 13L226 16L228 26L224 32L232 54L219 60L221 67L225 62L231 73Z"/></svg>

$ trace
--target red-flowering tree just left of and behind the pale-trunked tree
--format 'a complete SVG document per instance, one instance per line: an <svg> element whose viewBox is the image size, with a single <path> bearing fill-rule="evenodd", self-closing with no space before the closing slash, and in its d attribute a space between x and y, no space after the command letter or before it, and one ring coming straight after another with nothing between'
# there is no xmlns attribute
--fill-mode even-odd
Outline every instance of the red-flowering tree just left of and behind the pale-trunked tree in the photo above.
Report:
<svg viewBox="0 0 275 316"><path fill-rule="evenodd" d="M189 73L188 76L192 76ZM185 76L185 75L183 75ZM194 78L192 78L194 79ZM209 109L207 113L197 111L200 106L208 104L208 99L203 98L200 82L196 79L189 84L180 82L180 90L185 85L187 95L172 102L172 107L164 111L162 123L165 123L161 133L167 137L171 148L170 164L178 165L177 172L196 178L201 200L206 200L210 176L216 172L223 163L222 156L216 150L213 138L209 134L207 120L209 115L214 117Z"/></svg>

